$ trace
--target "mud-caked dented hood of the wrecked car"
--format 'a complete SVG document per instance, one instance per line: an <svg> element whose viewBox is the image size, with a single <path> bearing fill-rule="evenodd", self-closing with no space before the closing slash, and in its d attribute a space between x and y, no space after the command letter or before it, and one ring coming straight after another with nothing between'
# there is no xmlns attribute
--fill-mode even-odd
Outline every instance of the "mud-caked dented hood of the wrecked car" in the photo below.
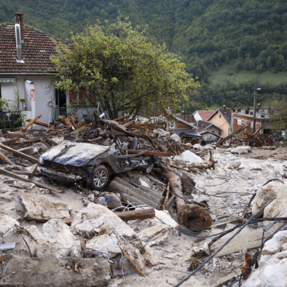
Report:
<svg viewBox="0 0 287 287"><path fill-rule="evenodd" d="M51 148L41 158L62 165L81 167L87 165L91 160L101 156L110 150L110 146L97 146L92 143L64 142ZM112 149L108 154L115 153Z"/></svg>

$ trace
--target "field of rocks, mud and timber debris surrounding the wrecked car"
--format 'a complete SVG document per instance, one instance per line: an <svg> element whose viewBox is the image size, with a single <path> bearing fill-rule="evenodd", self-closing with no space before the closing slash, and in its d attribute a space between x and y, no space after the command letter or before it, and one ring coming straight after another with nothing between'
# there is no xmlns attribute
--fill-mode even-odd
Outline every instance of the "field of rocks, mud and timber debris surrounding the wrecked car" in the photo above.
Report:
<svg viewBox="0 0 287 287"><path fill-rule="evenodd" d="M96 115L92 126L61 121L63 128L46 129L42 141L28 130L1 139L15 164L0 166L0 285L164 287L204 262L184 284L223 287L239 280L250 254L259 266L250 266L241 286L285 286L286 221L276 220L287 217L284 147L259 149L260 139L251 135L202 147L198 139L128 118L119 123ZM242 145L244 138L252 138L252 147ZM63 184L40 172L40 163L33 167L48 146L73 141L116 147L122 165L145 150L161 161L150 173L148 166L111 173L98 190L87 183L88 173L73 173Z"/></svg>

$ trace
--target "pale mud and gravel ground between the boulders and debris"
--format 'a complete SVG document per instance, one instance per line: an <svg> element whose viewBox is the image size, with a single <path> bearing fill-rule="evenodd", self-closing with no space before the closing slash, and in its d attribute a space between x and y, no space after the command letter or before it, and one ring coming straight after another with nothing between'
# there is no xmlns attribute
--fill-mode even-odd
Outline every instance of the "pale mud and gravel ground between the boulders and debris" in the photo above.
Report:
<svg viewBox="0 0 287 287"><path fill-rule="evenodd" d="M193 174L196 182L196 191L192 194L193 200L200 202L206 200L208 203L207 211L210 213L213 225L218 225L235 219L242 214L242 210L249 202L252 194L269 179L278 178L284 180L287 174L287 148L278 148L275 151L252 149L251 153L244 155L234 155L231 153L220 153L214 151L213 159L217 164L213 170L201 171ZM240 162L237 169L230 169L232 162ZM4 168L5 165L0 165ZM29 171L30 167L26 168ZM256 170L252 170L256 169ZM261 169L261 170L260 170ZM179 176L183 171L174 169ZM44 177L35 177L36 181L59 188L57 183L49 183ZM17 180L8 176L0 175L0 214L7 214L16 219L21 225L35 225L39 231L42 224L26 222L16 213L15 197L18 190L14 183ZM151 182L148 182L151 183ZM65 193L42 193L53 202L64 202L71 206L72 216L74 217L81 209L85 208L82 197L87 197L85 190L77 188L63 187ZM36 192L38 188L25 190L26 192ZM187 196L187 198L190 199ZM169 209L172 218L175 218L173 209ZM217 234L234 226L233 223L212 227L199 234L198 237L191 237L183 233L176 232L169 243L165 246L154 246L152 251L158 261L154 266L146 266L142 272L146 278L138 273L116 277L110 280L110 284L117 283L117 286L173 286L190 272L187 271L190 263L187 262L195 247L202 247L204 242L209 243L213 237L205 236ZM201 237L200 237L201 236ZM232 243L230 243L232 244ZM242 264L244 257L243 251L223 258L213 258L193 277L189 278L182 286L211 286L220 278L237 271ZM201 260L204 261L204 258Z"/></svg>

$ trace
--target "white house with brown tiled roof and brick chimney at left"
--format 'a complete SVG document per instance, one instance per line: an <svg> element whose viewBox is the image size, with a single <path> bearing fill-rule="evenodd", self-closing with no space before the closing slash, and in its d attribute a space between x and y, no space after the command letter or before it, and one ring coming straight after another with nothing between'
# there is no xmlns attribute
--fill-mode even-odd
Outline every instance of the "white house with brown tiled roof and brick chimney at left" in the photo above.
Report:
<svg viewBox="0 0 287 287"><path fill-rule="evenodd" d="M81 92L60 91L52 83L56 74L50 61L55 54L53 40L61 40L25 25L23 13L14 13L14 17L15 24L0 26L0 98L15 100L18 94L19 110L25 110L26 118L41 114L45 123L69 114L69 104L79 111L84 107L79 105ZM5 116L9 120L11 114Z"/></svg>

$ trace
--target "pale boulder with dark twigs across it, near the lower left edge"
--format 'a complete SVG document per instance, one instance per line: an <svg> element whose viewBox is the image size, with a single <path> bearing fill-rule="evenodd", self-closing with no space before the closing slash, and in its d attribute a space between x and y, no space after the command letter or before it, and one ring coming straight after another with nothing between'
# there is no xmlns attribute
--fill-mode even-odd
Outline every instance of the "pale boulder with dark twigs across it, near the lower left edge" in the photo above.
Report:
<svg viewBox="0 0 287 287"><path fill-rule="evenodd" d="M38 246L44 244L45 238L38 231L36 226L14 227L4 236L4 243L16 243L15 251L17 255L23 257L34 257Z"/></svg>

